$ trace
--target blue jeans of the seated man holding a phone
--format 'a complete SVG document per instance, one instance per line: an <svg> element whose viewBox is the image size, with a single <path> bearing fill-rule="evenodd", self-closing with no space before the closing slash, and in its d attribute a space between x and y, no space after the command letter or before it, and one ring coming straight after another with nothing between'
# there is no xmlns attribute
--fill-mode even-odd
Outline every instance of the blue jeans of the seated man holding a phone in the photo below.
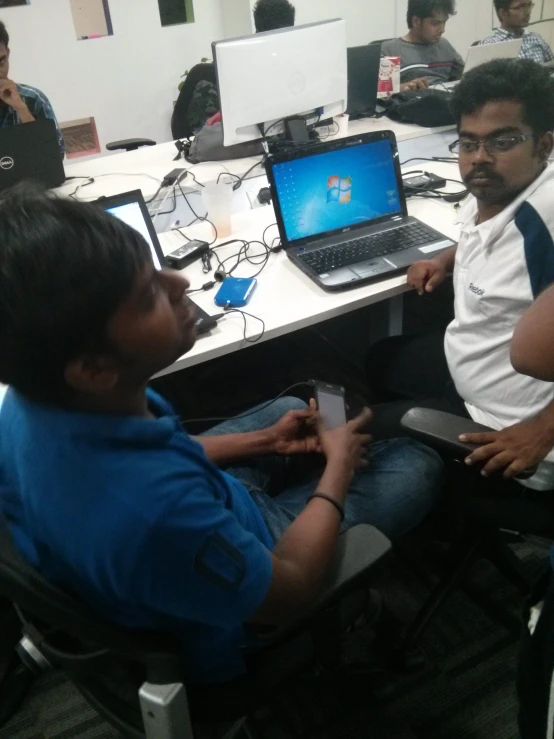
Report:
<svg viewBox="0 0 554 739"><path fill-rule="evenodd" d="M289 410L306 408L298 398L282 398L267 408L234 418L207 436L239 434L268 428ZM302 469L304 467L304 469ZM277 541L315 491L320 471L302 457L268 456L231 465L226 472L241 480ZM369 467L356 474L346 497L342 530L360 523L376 526L394 539L415 528L437 503L443 483L439 455L415 441L397 439L374 444ZM269 495L277 481L277 494Z"/></svg>

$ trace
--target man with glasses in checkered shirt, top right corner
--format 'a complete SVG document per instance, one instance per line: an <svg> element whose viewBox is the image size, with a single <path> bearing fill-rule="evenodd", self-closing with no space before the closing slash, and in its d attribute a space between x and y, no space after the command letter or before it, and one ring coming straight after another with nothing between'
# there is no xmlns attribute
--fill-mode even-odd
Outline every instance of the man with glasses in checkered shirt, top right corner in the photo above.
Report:
<svg viewBox="0 0 554 739"><path fill-rule="evenodd" d="M498 44L502 41L522 39L520 59L532 59L543 64L554 59L552 49L542 36L525 29L531 22L531 12L535 3L530 0L494 0L500 28L481 41L482 44Z"/></svg>

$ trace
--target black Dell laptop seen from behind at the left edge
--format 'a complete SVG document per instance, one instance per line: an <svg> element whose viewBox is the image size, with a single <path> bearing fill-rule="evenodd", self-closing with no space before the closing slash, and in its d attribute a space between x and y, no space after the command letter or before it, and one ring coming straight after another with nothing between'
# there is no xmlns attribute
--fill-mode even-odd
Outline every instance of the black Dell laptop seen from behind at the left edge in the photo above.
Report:
<svg viewBox="0 0 554 739"><path fill-rule="evenodd" d="M65 181L56 124L49 118L0 128L0 190L23 180L47 188Z"/></svg>

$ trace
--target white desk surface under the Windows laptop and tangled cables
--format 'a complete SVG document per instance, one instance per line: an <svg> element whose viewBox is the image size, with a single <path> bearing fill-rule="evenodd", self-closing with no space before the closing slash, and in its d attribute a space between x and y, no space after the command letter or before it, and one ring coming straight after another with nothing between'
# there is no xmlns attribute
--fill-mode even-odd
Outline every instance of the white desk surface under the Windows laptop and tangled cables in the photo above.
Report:
<svg viewBox="0 0 554 739"><path fill-rule="evenodd" d="M454 164L433 164L428 166L433 172L444 177L458 179L458 168ZM408 167L407 169L410 169ZM453 185L456 189L456 185ZM455 225L456 210L453 205L441 200L412 199L409 202L410 215L414 215L450 238L457 240L459 228ZM233 217L233 238L259 239L263 229L275 222L273 208L257 209L239 213ZM197 238L209 238L207 225L188 229L188 235ZM277 235L277 228L274 229ZM273 231L268 233L268 240ZM162 234L160 237L165 253L173 251L183 239L176 232ZM238 251L238 245L218 250L220 258L225 258ZM235 276L250 276L256 268L248 263L241 264ZM201 287L212 279L211 275L202 273L200 262L195 262L184 270L191 283L191 288ZM210 315L221 313L214 304L217 288L208 292L192 295L192 299ZM258 277L258 286L245 310L258 316L265 322L265 333L260 341L275 339L292 331L312 326L322 321L344 315L359 308L369 306L389 298L401 295L407 290L406 276L400 274L387 280L363 285L353 290L328 293L319 288L306 277L286 254L279 252L270 257L263 272ZM260 333L261 324L253 319L247 321L247 336L254 337ZM218 326L209 335L198 339L194 348L173 365L163 370L160 375L169 374L186 367L221 357L225 354L244 349L251 344L243 339L244 322L240 314L232 313L222 318Z"/></svg>

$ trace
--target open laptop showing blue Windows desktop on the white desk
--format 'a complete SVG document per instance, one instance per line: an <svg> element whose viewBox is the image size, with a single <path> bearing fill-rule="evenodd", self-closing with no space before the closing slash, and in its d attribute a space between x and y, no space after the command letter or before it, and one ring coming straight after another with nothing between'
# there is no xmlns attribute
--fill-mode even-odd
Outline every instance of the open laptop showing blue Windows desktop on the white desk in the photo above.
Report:
<svg viewBox="0 0 554 739"><path fill-rule="evenodd" d="M392 131L275 154L266 171L287 256L325 290L382 278L454 244L408 216Z"/></svg>

